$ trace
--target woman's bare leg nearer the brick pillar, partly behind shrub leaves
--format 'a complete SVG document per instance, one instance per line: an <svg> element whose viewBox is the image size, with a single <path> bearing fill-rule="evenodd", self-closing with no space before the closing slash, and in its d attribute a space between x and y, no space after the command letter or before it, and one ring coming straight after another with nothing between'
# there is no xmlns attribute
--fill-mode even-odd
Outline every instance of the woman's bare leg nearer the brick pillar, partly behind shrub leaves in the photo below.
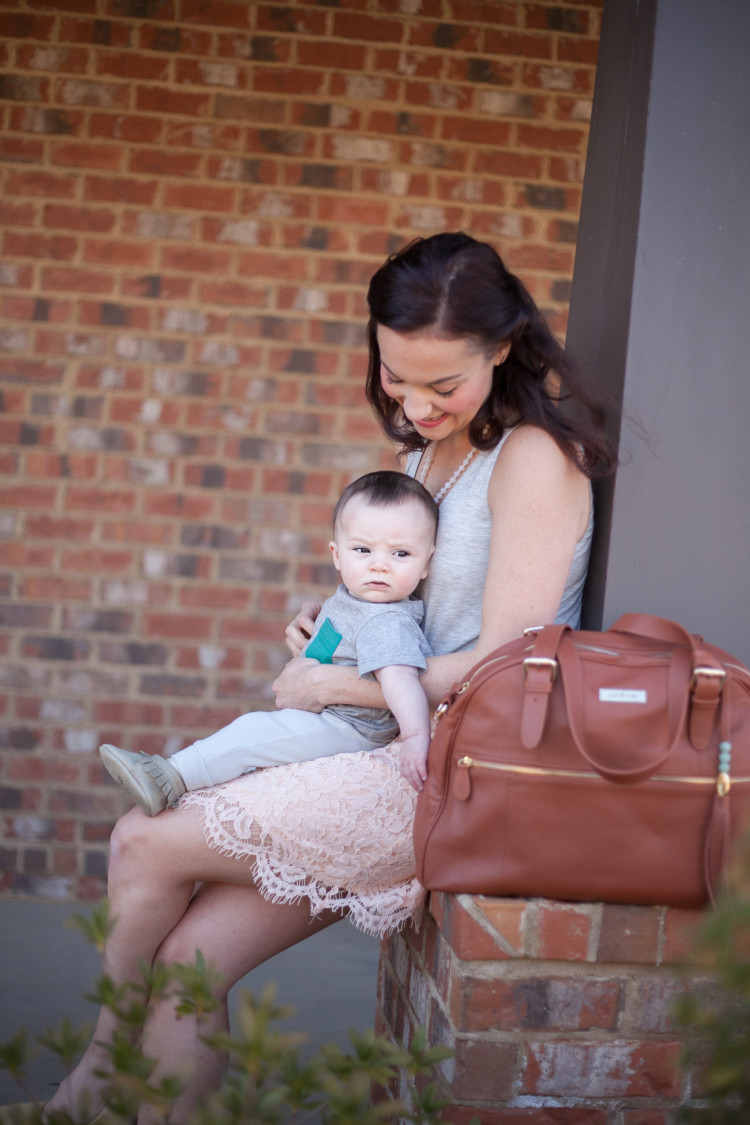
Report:
<svg viewBox="0 0 750 1125"><path fill-rule="evenodd" d="M178 1073L188 1080L184 1092L170 1106L170 1125L189 1119L201 1096L216 1089L224 1077L226 1059L211 1051L201 1037L228 1029L226 1000L229 989L263 961L325 929L341 917L341 914L326 911L311 918L307 901L293 906L269 902L255 886L226 883L201 886L184 918L159 951L159 958L168 963L191 962L200 950L207 964L224 974L216 993L220 1007L198 1026L192 1017L178 1019L173 1002L160 1000L151 1010L144 1035L145 1054L159 1060L152 1081ZM153 1107L144 1106L138 1125L152 1125L161 1119Z"/></svg>

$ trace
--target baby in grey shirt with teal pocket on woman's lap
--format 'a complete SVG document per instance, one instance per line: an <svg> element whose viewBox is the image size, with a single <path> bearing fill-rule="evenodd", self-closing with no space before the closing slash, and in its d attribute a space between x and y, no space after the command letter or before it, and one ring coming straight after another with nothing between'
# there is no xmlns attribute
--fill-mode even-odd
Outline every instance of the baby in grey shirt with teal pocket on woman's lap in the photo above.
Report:
<svg viewBox="0 0 750 1125"><path fill-rule="evenodd" d="M371 750L399 735L399 765L415 789L427 776L430 706L419 683L430 646L424 605L412 598L435 549L437 506L403 472L369 472L336 504L328 544L342 585L320 608L302 656L356 665L374 676L389 710L350 704L320 713L286 708L251 711L169 759L99 748L106 768L150 817L188 790L260 766Z"/></svg>

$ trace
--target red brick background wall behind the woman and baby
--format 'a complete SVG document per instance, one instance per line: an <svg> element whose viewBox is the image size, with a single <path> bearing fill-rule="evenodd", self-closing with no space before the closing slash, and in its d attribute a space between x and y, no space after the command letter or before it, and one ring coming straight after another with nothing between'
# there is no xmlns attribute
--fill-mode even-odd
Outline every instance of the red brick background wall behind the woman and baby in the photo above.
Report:
<svg viewBox="0 0 750 1125"><path fill-rule="evenodd" d="M6 0L0 874L97 897L96 747L269 706L391 454L367 280L493 241L564 331L599 2Z"/></svg>

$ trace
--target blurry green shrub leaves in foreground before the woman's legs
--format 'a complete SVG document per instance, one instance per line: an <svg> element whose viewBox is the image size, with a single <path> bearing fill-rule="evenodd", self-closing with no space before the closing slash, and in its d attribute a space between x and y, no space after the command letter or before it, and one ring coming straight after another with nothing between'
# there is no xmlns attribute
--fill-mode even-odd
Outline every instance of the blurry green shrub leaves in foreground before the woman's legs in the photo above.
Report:
<svg viewBox="0 0 750 1125"><path fill-rule="evenodd" d="M89 917L75 917L72 925L100 945L111 929L106 903ZM146 1105L169 1115L183 1089L177 1076L157 1078L155 1060L144 1055L139 1046L150 998L173 1001L180 1015L198 1020L199 1028L201 1023L211 1026L220 981L198 953L189 965L142 966L137 979L124 984L108 974L94 982L89 999L103 1005L117 1023L111 1041L102 1043L108 1061L94 1071L105 1082L102 1098L111 1122L129 1125L138 1108ZM444 1101L434 1082L419 1083L422 1089L414 1083L408 1101L383 1097L373 1102L372 1091L390 1088L399 1070L410 1078L430 1078L435 1061L451 1052L427 1047L421 1032L406 1050L367 1028L350 1032L347 1051L327 1043L306 1056L301 1053L306 1036L279 1028L280 1020L291 1014L291 1008L277 1002L275 989L270 986L260 996L242 993L232 1033L200 1033L202 1042L226 1053L228 1071L220 1089L207 1091L201 1099L190 1125L216 1125L217 1120L222 1125L437 1125ZM88 1037L88 1028L75 1028L64 1019L57 1029L37 1036L36 1043L70 1069ZM0 1066L19 1084L31 1051L22 1029L0 1044ZM40 1107L29 1125L42 1125ZM44 1125L83 1123L65 1113L49 1113Z"/></svg>

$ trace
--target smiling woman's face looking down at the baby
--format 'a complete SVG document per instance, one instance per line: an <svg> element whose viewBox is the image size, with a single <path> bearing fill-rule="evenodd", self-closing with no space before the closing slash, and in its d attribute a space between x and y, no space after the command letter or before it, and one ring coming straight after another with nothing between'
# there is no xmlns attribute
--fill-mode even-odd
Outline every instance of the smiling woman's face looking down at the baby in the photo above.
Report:
<svg viewBox="0 0 750 1125"><path fill-rule="evenodd" d="M500 344L488 356L472 340L430 333L405 335L378 325L380 381L417 433L442 441L466 430L493 386L493 368L506 358Z"/></svg>

